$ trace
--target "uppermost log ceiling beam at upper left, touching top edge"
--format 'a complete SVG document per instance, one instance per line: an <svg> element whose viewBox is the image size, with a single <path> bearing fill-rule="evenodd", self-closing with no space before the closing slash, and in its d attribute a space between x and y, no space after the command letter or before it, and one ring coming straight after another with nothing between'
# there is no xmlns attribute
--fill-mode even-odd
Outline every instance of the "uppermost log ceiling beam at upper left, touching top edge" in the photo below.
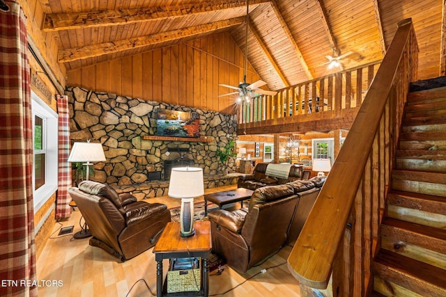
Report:
<svg viewBox="0 0 446 297"><path fill-rule="evenodd" d="M40 0L43 1L43 0ZM270 0L251 0L249 6L268 3ZM240 8L247 1L217 0L200 1L177 6L155 6L123 10L88 11L83 13L56 13L45 18L43 31L83 29L94 26L117 26L134 22L147 22L169 17L183 17L219 10Z"/></svg>

